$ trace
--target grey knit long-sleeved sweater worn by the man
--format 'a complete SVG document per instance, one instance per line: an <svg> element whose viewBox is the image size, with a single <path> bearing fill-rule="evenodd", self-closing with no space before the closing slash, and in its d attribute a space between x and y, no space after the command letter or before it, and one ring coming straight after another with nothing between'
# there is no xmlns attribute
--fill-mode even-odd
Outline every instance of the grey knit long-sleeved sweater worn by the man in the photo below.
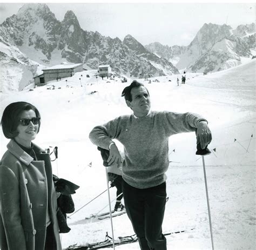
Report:
<svg viewBox="0 0 256 250"><path fill-rule="evenodd" d="M166 180L169 166L169 137L195 131L205 120L194 113L152 111L147 116L120 116L96 126L90 133L92 143L109 149L111 139L124 145L123 179L136 188L149 188ZM206 120L205 120L206 121Z"/></svg>

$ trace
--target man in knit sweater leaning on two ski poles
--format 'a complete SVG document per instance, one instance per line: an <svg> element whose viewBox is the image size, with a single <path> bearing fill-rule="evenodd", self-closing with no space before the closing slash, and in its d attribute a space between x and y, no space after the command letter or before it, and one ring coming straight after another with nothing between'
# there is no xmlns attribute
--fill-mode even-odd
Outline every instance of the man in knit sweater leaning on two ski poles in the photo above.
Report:
<svg viewBox="0 0 256 250"><path fill-rule="evenodd" d="M89 137L93 144L110 150L109 165L119 165L121 160L112 139L124 145L124 203L140 248L166 250L161 226L166 200L169 137L197 129L197 143L205 148L211 142L211 131L207 121L198 114L151 111L149 91L136 80L125 87L122 96L133 114L96 126Z"/></svg>

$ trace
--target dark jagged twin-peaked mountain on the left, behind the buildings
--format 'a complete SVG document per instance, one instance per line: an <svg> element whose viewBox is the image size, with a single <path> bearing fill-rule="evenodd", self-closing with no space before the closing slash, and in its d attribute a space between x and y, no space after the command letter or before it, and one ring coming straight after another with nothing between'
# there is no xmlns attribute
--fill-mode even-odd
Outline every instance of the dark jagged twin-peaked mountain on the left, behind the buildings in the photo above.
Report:
<svg viewBox="0 0 256 250"><path fill-rule="evenodd" d="M62 22L58 21L42 3L24 4L17 15L6 18L0 25L0 43L0 51L5 44L47 66L83 62L87 69L97 69L99 64L110 64L114 72L134 77L144 73L163 76L178 72L170 62L159 60L149 52L149 59L140 57L119 38L84 31L72 11L66 12ZM4 54L2 57L5 59ZM30 75L34 73L31 71ZM1 74L4 78L5 73Z"/></svg>

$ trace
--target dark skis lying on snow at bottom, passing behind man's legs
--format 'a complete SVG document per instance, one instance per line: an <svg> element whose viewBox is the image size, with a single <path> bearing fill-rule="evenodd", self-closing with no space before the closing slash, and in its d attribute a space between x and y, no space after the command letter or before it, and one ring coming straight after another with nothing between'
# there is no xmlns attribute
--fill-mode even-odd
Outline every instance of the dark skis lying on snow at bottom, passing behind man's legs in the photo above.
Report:
<svg viewBox="0 0 256 250"><path fill-rule="evenodd" d="M191 228L190 231L192 231L193 229L194 228ZM176 232L171 232L171 233L164 233L164 235L166 236L166 235L171 235L171 234L185 233L188 231L189 230L181 230L181 231L176 231ZM126 236L126 237L118 237L118 239L114 241L114 245L118 246L118 245L123 245L123 244L129 244L132 242L136 242L137 240L138 240L138 238L137 238L136 234L133 234L131 236ZM90 249L106 248L106 247L111 247L111 246L113 246L112 238L109 237L109 235L106 232L106 238L104 241L87 244L86 246L77 246L77 244L75 244L75 245L69 246L65 250L90 250Z"/></svg>

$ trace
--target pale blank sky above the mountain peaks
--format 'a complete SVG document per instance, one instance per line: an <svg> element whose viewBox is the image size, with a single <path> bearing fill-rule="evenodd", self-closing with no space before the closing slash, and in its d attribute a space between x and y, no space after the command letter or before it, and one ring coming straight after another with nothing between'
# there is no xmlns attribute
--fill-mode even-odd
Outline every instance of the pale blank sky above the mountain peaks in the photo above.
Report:
<svg viewBox="0 0 256 250"><path fill-rule="evenodd" d="M16 14L24 4L15 2L0 3L0 23ZM228 24L235 29L240 24L255 22L253 2L129 2L53 3L48 1L47 5L59 21L63 20L66 11L72 10L83 30L98 31L103 36L118 37L121 40L130 34L143 45L159 42L169 46L187 46L204 23Z"/></svg>

